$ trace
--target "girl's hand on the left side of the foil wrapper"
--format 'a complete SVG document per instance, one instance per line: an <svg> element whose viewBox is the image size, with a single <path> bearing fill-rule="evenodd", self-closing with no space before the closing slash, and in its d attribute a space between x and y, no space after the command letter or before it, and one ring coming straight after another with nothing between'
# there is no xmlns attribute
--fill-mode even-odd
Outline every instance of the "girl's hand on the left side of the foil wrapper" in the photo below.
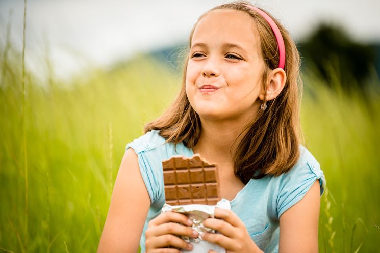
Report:
<svg viewBox="0 0 380 253"><path fill-rule="evenodd" d="M150 220L145 231L146 253L179 253L181 248L192 250L193 245L175 236L198 237L198 232L188 227L192 223L186 215L175 212L164 212ZM166 248L168 246L175 248Z"/></svg>

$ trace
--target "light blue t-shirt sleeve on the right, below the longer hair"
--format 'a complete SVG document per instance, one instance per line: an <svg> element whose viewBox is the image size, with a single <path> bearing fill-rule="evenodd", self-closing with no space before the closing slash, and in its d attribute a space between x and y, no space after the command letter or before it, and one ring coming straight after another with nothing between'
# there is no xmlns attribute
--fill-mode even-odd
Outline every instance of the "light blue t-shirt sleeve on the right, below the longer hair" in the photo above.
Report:
<svg viewBox="0 0 380 253"><path fill-rule="evenodd" d="M326 184L323 171L313 156L306 156L289 172L284 173L277 195L278 218L290 207L300 201L309 191L314 182L319 179L320 195L322 196Z"/></svg>

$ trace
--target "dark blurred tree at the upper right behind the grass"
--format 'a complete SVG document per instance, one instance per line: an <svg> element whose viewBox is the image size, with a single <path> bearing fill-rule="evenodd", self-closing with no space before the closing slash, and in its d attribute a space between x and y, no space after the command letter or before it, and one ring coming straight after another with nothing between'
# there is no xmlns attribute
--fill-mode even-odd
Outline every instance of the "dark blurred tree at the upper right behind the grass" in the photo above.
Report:
<svg viewBox="0 0 380 253"><path fill-rule="evenodd" d="M363 91L378 65L378 47L354 42L343 29L328 24L321 24L298 46L303 67L315 67L328 85L347 92Z"/></svg>

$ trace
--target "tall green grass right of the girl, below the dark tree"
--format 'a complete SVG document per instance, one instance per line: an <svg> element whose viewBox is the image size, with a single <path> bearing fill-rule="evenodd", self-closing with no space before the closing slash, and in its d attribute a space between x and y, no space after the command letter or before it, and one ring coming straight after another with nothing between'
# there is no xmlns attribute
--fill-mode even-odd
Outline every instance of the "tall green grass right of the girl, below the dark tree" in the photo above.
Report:
<svg viewBox="0 0 380 253"><path fill-rule="evenodd" d="M359 252L377 252L379 96L348 96L310 78L306 82L302 127L307 146L326 175L329 191L322 198L320 251L355 252L363 243Z"/></svg>

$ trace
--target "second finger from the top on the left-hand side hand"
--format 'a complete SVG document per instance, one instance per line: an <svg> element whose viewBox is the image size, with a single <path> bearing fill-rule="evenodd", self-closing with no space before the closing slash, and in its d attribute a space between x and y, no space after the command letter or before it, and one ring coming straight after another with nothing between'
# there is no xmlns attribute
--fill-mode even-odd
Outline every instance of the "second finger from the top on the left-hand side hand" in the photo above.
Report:
<svg viewBox="0 0 380 253"><path fill-rule="evenodd" d="M154 229L147 231L146 233L147 236L161 236L166 234L173 234L189 236L192 238L198 237L198 232L196 232L192 228L174 222L161 224L155 227Z"/></svg>

